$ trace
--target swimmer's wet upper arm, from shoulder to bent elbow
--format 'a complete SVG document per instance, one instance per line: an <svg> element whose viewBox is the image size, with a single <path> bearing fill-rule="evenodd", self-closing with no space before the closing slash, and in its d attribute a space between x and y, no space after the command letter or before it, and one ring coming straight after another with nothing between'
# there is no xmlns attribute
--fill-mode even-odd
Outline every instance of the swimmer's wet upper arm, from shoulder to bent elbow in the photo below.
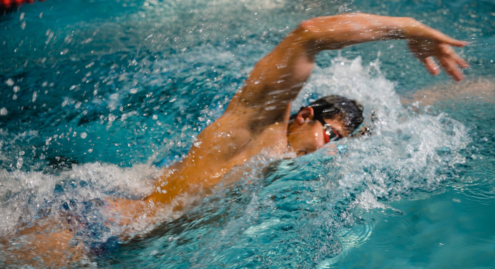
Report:
<svg viewBox="0 0 495 269"><path fill-rule="evenodd" d="M291 101L311 74L313 55L298 27L254 67L225 115L236 115L253 134L285 120Z"/></svg>

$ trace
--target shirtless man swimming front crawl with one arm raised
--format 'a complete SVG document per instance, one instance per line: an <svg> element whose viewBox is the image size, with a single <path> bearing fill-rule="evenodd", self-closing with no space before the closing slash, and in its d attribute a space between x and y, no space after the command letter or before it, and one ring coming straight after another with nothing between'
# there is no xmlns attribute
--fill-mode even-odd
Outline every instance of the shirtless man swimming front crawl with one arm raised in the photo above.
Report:
<svg viewBox="0 0 495 269"><path fill-rule="evenodd" d="M412 18L349 13L304 21L255 65L224 114L198 135L184 159L164 171L153 193L144 200L108 199L102 201L104 207L111 208L112 216L125 216L117 223L128 224L145 213L148 217L156 215L160 207L180 209L175 198L185 193L207 193L234 166L251 156L263 152L271 156L301 156L347 137L363 120L362 108L355 101L332 95L292 116L291 102L309 78L319 51L393 39L406 40L433 75L440 73L436 58L455 81L464 78L461 68L468 63L452 46L468 43ZM50 229L48 221L40 221L39 225L25 229L21 233L33 238L33 248L38 246L39 251L20 252L35 253L29 256L37 257L32 262L42 260L51 266L77 260L84 247L74 242L76 237L70 224L57 225L58 229ZM21 259L19 255L15 259Z"/></svg>

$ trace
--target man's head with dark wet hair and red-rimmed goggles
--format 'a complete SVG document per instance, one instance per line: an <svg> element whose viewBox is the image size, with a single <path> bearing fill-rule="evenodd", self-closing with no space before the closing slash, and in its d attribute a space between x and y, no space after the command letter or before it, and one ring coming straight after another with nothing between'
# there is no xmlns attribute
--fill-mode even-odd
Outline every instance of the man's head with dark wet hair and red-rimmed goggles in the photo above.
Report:
<svg viewBox="0 0 495 269"><path fill-rule="evenodd" d="M362 106L349 98L330 95L320 98L290 117L287 138L289 145L304 155L315 151L332 138L354 132L362 123Z"/></svg>

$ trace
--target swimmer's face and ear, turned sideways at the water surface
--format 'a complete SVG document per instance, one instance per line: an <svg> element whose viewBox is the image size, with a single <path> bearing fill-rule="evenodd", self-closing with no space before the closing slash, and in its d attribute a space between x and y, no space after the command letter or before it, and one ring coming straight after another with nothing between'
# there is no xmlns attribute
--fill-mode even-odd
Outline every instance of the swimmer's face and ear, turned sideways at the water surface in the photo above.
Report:
<svg viewBox="0 0 495 269"><path fill-rule="evenodd" d="M297 114L296 120L288 128L287 140L297 156L311 153L326 144L325 128L319 121L313 120L313 116L313 109L307 107ZM349 135L344 123L338 118L324 120L340 137Z"/></svg>

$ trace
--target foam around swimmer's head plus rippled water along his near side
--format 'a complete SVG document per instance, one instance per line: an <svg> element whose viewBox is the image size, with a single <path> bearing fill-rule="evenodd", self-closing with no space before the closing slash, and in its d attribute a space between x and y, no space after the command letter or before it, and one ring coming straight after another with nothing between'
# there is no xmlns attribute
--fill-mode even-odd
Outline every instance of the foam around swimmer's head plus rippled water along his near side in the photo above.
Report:
<svg viewBox="0 0 495 269"><path fill-rule="evenodd" d="M393 92L360 58L317 69L294 108L329 94L355 97L372 135L294 160L253 158L226 175L233 183L114 258L133 253L136 265L164 268L307 268L339 254L336 232L359 223L363 210L438 189L465 161L459 151L470 138L461 123L404 108ZM365 234L358 239L371 228Z"/></svg>

